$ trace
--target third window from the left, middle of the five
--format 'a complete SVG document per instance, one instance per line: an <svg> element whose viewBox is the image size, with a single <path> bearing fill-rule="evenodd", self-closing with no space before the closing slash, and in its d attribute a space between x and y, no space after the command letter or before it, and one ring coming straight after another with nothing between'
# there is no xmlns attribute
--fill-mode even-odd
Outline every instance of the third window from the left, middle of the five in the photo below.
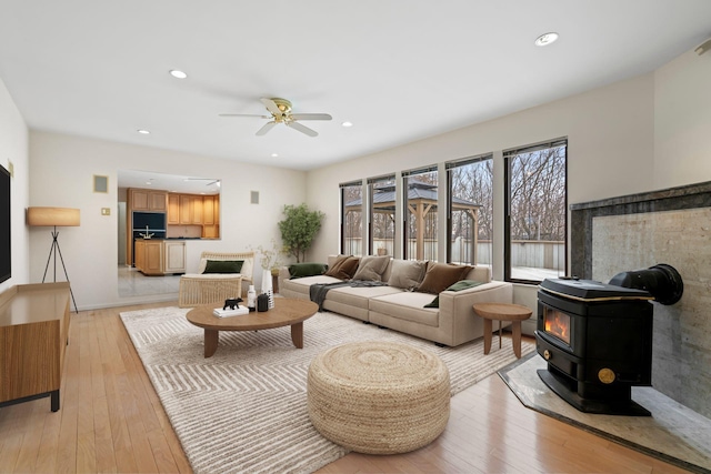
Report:
<svg viewBox="0 0 711 474"><path fill-rule="evenodd" d="M402 173L404 258L437 261L437 168Z"/></svg>

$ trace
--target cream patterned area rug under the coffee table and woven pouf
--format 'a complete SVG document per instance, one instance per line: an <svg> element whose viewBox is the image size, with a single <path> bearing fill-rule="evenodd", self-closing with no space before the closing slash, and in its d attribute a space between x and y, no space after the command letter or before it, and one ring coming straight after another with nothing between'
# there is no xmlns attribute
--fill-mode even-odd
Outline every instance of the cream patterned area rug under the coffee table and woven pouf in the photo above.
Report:
<svg viewBox="0 0 711 474"><path fill-rule="evenodd" d="M438 347L333 313L304 322L303 349L293 346L289 326L224 332L204 359L203 332L186 320L188 311L133 311L121 320L197 473L307 473L346 455L313 428L307 410L309 363L327 347L392 341L431 351L450 371L452 395L515 361L508 337L483 355L481 339ZM521 344L523 354L533 349Z"/></svg>

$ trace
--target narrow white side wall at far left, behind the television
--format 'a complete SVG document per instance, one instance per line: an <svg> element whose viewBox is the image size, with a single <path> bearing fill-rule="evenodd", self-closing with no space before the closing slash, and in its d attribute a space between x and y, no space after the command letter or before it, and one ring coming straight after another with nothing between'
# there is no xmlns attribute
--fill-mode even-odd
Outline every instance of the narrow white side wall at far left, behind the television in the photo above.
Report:
<svg viewBox="0 0 711 474"><path fill-rule="evenodd" d="M14 178L10 180L12 278L0 283L0 292L12 285L29 282L30 259L28 231L24 225L24 209L30 199L28 128L0 79L0 163L9 169L10 162L14 169Z"/></svg>

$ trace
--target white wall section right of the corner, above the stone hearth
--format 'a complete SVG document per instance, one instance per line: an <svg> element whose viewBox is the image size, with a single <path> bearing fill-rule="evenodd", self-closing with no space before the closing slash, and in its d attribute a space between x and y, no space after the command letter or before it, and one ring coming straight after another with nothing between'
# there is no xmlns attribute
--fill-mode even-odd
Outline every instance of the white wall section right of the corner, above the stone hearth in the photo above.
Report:
<svg viewBox="0 0 711 474"><path fill-rule="evenodd" d="M711 179L711 52L654 72L654 188Z"/></svg>

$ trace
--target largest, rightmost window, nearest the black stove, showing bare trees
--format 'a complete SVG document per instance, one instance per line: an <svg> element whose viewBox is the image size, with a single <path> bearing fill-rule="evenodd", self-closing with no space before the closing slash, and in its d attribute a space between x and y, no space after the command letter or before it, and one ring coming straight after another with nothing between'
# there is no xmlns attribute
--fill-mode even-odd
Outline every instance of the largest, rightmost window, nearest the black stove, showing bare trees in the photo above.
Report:
<svg viewBox="0 0 711 474"><path fill-rule="evenodd" d="M568 141L503 152L507 170L504 278L538 283L565 274Z"/></svg>

